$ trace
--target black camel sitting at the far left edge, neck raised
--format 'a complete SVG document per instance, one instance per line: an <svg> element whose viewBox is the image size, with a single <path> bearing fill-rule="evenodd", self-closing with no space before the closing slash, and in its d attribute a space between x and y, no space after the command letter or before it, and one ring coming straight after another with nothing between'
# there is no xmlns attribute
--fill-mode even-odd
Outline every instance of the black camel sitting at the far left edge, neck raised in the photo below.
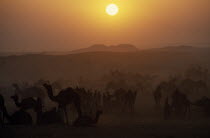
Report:
<svg viewBox="0 0 210 138"><path fill-rule="evenodd" d="M9 121L11 125L31 125L32 124L32 117L29 113L25 112L24 110L20 109L9 115L7 109L4 105L4 98L0 96L0 110L3 112L5 118Z"/></svg>

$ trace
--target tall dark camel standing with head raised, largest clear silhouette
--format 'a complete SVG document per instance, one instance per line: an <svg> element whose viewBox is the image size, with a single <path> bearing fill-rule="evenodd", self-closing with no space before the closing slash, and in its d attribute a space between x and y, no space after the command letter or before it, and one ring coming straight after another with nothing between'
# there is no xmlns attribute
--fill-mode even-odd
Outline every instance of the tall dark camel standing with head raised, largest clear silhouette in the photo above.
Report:
<svg viewBox="0 0 210 138"><path fill-rule="evenodd" d="M58 103L58 107L64 111L67 124L69 124L68 114L66 110L67 105L73 103L77 109L78 116L81 116L82 113L80 107L81 106L80 95L74 92L72 88L67 88L65 90L62 90L57 96L54 96L51 85L44 84L43 86L46 88L49 98L52 101Z"/></svg>

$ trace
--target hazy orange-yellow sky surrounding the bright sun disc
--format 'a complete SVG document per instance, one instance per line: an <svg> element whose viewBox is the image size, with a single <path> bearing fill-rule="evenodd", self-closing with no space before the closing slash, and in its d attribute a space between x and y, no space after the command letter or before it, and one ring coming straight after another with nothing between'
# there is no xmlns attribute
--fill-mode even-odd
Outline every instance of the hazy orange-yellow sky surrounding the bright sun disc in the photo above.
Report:
<svg viewBox="0 0 210 138"><path fill-rule="evenodd" d="M109 3L120 12L105 13ZM0 0L0 51L210 43L210 0Z"/></svg>

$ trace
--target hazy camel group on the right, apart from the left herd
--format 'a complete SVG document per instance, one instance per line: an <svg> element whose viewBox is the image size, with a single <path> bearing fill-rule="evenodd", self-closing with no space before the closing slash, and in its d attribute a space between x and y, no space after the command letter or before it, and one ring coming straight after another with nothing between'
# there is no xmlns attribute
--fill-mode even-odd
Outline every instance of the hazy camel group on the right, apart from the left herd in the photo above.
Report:
<svg viewBox="0 0 210 138"><path fill-rule="evenodd" d="M210 99L208 97L202 96L202 98L196 101L192 101L189 98L193 94L193 90L195 90L195 94L199 97L198 90L200 88L205 92L208 91L203 81L184 79L178 82L172 79L168 82L161 82L153 93L156 107L160 107L161 101L163 101L165 119L174 117L190 118L192 106L202 108L203 112L207 116L210 116Z"/></svg>

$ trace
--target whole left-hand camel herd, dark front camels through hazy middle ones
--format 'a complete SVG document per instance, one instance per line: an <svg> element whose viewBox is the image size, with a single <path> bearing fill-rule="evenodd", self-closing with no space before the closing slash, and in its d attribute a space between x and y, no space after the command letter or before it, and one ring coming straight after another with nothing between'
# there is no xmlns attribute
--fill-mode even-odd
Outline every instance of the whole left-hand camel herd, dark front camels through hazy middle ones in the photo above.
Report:
<svg viewBox="0 0 210 138"><path fill-rule="evenodd" d="M31 115L27 112L32 109L36 113L36 124L69 124L69 115L67 106L73 105L76 109L77 118L72 122L74 126L89 126L96 124L102 114L102 106L104 111L117 110L119 111L134 111L134 104L137 92L124 91L119 89L114 94L100 93L99 91L86 90L84 88L71 88L62 89L56 96L54 95L53 87L50 84L43 84L49 99L52 102L57 103L57 107L52 108L49 111L43 111L44 103L41 96L30 97L25 96L20 100L18 94L22 93L18 85L13 85L16 90L15 95L10 98L14 101L14 104L18 108L13 114L7 112L4 97L0 95L0 113L1 124L4 124L6 118L7 122L11 125L31 125L33 123ZM27 90L34 91L32 88ZM40 89L37 89L39 92ZM71 109L70 109L71 110ZM72 109L73 111L73 109ZM61 112L63 115L61 115ZM91 115L90 113L95 113ZM93 116L93 117L92 117ZM94 117L95 116L95 117Z"/></svg>

